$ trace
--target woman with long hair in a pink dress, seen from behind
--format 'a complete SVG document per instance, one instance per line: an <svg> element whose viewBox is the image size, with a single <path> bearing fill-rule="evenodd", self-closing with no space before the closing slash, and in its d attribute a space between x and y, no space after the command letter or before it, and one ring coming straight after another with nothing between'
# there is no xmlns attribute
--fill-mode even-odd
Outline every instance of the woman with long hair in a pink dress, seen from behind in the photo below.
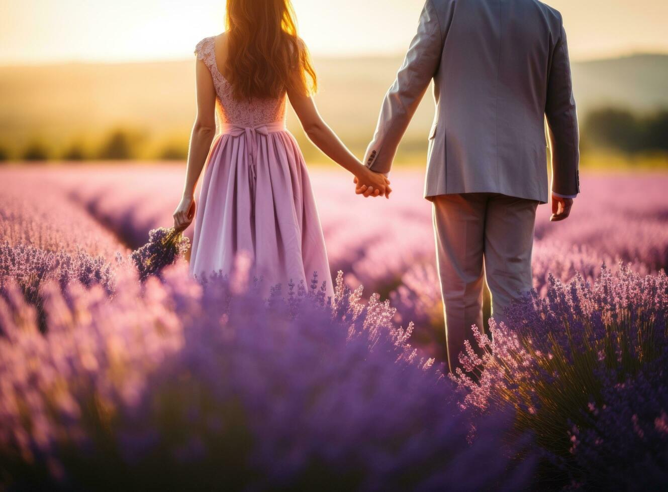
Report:
<svg viewBox="0 0 668 492"><path fill-rule="evenodd" d="M285 130L286 96L311 142L366 186L365 195L389 197L389 181L363 166L318 114L316 75L290 0L228 0L226 27L195 48L197 117L174 212L174 226L187 228L206 161L190 272L229 273L245 251L265 292L291 280L308 286L316 274L333 296L309 175Z"/></svg>

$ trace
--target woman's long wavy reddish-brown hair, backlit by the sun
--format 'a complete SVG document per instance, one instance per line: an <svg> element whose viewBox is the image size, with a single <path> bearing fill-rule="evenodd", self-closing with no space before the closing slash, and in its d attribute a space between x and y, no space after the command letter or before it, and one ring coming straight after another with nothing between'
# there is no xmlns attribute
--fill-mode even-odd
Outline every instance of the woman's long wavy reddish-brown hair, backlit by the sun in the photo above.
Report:
<svg viewBox="0 0 668 492"><path fill-rule="evenodd" d="M236 99L315 92L315 70L290 0L227 0L226 27L225 75Z"/></svg>

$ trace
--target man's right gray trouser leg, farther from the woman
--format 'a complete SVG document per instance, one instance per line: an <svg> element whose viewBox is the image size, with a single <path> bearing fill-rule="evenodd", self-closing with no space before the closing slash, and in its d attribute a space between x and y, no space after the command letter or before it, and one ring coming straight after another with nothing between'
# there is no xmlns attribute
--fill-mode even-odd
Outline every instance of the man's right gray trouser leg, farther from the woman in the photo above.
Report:
<svg viewBox="0 0 668 492"><path fill-rule="evenodd" d="M531 290L531 252L538 202L492 196L485 223L485 274L492 293L492 317L507 322L510 303Z"/></svg>

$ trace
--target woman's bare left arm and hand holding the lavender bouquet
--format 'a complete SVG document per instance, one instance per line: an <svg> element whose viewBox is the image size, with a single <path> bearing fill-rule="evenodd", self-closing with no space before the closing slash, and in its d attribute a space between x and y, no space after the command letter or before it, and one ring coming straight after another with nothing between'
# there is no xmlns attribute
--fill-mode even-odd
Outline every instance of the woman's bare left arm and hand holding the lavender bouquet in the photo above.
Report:
<svg viewBox="0 0 668 492"><path fill-rule="evenodd" d="M174 227L185 230L195 216L195 188L216 134L216 89L204 61L196 61L197 117L190 134L183 198L174 211Z"/></svg>

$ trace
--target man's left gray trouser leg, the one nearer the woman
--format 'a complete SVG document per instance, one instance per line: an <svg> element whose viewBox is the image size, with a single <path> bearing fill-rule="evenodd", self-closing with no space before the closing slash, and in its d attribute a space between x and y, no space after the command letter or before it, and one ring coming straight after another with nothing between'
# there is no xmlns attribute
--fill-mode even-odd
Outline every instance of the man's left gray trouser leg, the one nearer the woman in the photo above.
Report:
<svg viewBox="0 0 668 492"><path fill-rule="evenodd" d="M460 366L464 340L475 346L471 325L482 328L487 198L487 194L474 193L440 195L434 200L436 260L446 314L450 371Z"/></svg>

